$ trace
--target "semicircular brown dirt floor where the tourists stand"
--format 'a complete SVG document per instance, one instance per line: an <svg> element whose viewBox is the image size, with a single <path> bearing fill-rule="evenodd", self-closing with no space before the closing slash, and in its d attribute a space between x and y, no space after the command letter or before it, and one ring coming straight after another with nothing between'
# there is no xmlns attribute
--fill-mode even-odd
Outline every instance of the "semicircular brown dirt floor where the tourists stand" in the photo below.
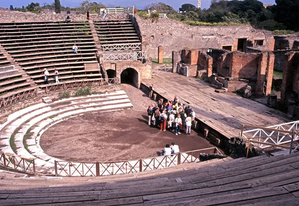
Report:
<svg viewBox="0 0 299 206"><path fill-rule="evenodd" d="M117 161L157 156L165 144L175 142L180 151L213 147L194 131L176 136L149 127L147 108L153 103L140 89L122 84L131 110L85 114L60 122L41 137L48 155L69 161Z"/></svg>

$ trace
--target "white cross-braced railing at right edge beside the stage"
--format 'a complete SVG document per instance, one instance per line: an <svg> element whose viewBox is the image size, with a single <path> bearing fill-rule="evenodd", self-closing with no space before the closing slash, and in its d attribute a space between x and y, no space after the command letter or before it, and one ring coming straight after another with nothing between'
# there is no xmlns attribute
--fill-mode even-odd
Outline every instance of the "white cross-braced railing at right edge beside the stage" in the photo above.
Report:
<svg viewBox="0 0 299 206"><path fill-rule="evenodd" d="M299 135L295 133L298 129L299 121L284 123L280 125L274 125L269 127L257 127L242 125L240 137L255 138L256 143L260 148L267 148L270 146L281 145L289 143L293 140L299 140ZM253 130L244 131L244 128L254 128ZM251 140L251 143L254 141Z"/></svg>

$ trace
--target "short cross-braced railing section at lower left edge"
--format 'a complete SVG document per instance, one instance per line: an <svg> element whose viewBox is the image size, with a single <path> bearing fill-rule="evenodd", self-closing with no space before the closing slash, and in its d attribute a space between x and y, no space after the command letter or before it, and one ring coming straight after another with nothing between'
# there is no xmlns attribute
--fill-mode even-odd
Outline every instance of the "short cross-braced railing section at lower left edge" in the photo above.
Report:
<svg viewBox="0 0 299 206"><path fill-rule="evenodd" d="M0 157L0 164L6 169L35 175L34 159L2 153Z"/></svg>

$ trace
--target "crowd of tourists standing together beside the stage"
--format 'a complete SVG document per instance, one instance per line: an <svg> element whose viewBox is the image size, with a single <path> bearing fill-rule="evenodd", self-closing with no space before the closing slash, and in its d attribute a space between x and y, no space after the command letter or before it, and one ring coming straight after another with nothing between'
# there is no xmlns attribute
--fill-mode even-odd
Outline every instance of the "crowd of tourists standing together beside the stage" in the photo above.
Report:
<svg viewBox="0 0 299 206"><path fill-rule="evenodd" d="M149 86L149 97L152 95L153 85ZM175 132L175 135L180 135L182 129L186 129L185 134L190 135L191 125L195 120L195 112L190 106L182 104L177 96L174 96L173 100L167 100L162 103L161 100L157 104L152 104L148 107L148 124L153 125L160 131L166 131L166 127L169 131Z"/></svg>

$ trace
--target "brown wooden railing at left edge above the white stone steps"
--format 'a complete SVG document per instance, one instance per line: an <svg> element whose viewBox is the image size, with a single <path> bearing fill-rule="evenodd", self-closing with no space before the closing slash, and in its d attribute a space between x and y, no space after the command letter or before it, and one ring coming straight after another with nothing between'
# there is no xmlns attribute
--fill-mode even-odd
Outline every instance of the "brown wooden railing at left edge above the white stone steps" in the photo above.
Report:
<svg viewBox="0 0 299 206"><path fill-rule="evenodd" d="M31 97L37 96L37 89L32 88L28 90L22 90L17 93L12 93L11 95L0 97L0 109L8 107L12 104L18 103L25 99L29 99Z"/></svg>

